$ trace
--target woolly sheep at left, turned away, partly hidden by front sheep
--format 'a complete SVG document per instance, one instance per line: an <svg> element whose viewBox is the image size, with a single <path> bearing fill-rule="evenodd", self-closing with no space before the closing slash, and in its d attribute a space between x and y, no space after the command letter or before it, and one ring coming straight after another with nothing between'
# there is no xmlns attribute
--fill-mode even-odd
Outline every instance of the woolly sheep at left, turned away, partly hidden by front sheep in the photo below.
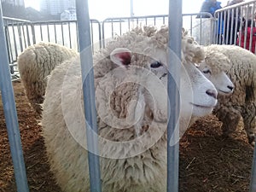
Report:
<svg viewBox="0 0 256 192"><path fill-rule="evenodd" d="M18 69L26 97L38 114L42 111L46 77L55 66L75 55L78 55L76 51L60 44L40 42L29 46L18 56Z"/></svg>

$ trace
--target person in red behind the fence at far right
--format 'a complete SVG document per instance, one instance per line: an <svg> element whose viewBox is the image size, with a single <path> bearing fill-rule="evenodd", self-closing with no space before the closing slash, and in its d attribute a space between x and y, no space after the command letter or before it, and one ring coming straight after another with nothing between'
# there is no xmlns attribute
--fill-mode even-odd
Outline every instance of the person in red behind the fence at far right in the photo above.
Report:
<svg viewBox="0 0 256 192"><path fill-rule="evenodd" d="M239 33L239 36L241 37L238 37L236 40L237 45L247 50L250 50L250 41L252 41L251 51L253 52L253 54L255 54L255 44L256 44L256 27L254 24L254 20L247 21L247 28L245 28L245 26L242 28L241 32ZM252 39L251 39L251 33L253 33ZM240 38L241 38L241 41L240 41ZM245 44L245 41L246 41L246 44Z"/></svg>

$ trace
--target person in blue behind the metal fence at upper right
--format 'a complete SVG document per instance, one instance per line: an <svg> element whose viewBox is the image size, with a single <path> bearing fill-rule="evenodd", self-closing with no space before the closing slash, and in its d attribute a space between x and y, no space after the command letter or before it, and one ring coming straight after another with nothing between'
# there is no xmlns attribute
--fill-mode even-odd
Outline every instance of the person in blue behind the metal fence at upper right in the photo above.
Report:
<svg viewBox="0 0 256 192"><path fill-rule="evenodd" d="M227 6L231 6L237 3L244 2L244 0L232 0L228 3ZM243 18L241 17L241 9L237 8L237 15L236 9L232 14L232 10L230 10L230 15L226 15L226 22L225 22L225 34L224 34L224 44L236 44L237 32L239 32L240 25L242 25ZM237 20L236 20L237 18ZM242 22L241 22L242 20ZM237 23L237 27L236 27Z"/></svg>

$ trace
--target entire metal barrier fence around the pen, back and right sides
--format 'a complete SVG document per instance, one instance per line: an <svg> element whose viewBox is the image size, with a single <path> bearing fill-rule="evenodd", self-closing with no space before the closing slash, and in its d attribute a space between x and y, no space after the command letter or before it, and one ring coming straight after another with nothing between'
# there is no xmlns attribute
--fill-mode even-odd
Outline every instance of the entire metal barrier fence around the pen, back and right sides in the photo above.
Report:
<svg viewBox="0 0 256 192"><path fill-rule="evenodd" d="M236 44L255 53L255 2L253 0L218 9L214 17L204 12L183 14L183 27L199 44ZM90 20L92 51L94 53L104 47L108 39L129 32L136 26L167 24L168 15L108 18L102 22ZM76 20L32 22L4 17L3 25L12 79L19 78L18 55L31 44L44 41L79 49Z"/></svg>

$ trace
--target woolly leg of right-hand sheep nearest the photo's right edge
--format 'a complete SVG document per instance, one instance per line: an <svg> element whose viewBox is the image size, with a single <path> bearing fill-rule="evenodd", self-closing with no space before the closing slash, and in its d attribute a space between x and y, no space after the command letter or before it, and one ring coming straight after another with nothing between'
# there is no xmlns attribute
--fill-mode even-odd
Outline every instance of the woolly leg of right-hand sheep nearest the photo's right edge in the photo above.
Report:
<svg viewBox="0 0 256 192"><path fill-rule="evenodd" d="M247 103L241 116L243 118L244 129L247 133L249 143L255 142L255 129L256 129L256 104Z"/></svg>

